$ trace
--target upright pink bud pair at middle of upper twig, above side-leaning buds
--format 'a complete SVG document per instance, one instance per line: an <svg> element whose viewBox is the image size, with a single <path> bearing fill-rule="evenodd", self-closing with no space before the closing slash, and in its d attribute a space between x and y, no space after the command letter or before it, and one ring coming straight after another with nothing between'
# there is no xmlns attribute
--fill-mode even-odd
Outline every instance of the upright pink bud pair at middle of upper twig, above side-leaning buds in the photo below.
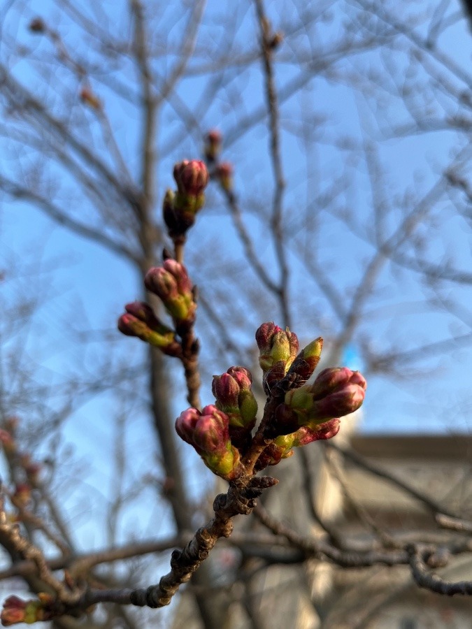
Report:
<svg viewBox="0 0 472 629"><path fill-rule="evenodd" d="M174 321L177 323L194 321L196 303L192 292L192 282L183 264L170 258L167 259L162 267L153 267L148 270L144 284L149 291L162 300Z"/></svg>

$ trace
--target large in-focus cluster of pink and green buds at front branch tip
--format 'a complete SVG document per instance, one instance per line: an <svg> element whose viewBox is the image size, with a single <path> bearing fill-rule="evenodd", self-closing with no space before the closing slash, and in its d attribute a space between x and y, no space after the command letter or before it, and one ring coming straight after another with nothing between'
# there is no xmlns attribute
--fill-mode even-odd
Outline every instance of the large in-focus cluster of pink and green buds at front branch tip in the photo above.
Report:
<svg viewBox="0 0 472 629"><path fill-rule="evenodd" d="M258 328L256 340L268 403L254 437L257 448L261 440L263 444L253 463L255 472L292 456L296 447L334 437L339 418L362 405L367 386L358 371L346 367L325 369L313 384L306 384L320 361L321 337L298 353L296 335L268 322ZM238 477L253 456L257 402L251 385L248 369L231 367L213 377L214 406L203 412L190 408L176 421L180 437L208 468L228 480Z"/></svg>

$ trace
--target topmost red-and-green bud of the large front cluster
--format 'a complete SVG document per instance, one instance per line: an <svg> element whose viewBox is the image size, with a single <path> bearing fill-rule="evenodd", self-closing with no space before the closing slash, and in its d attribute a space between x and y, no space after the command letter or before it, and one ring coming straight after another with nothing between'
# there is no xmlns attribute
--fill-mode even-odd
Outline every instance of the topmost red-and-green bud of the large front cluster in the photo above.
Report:
<svg viewBox="0 0 472 629"><path fill-rule="evenodd" d="M285 364L287 372L299 350L299 341L294 332L283 330L270 322L257 328L256 342L259 347L259 365L264 372L279 361Z"/></svg>

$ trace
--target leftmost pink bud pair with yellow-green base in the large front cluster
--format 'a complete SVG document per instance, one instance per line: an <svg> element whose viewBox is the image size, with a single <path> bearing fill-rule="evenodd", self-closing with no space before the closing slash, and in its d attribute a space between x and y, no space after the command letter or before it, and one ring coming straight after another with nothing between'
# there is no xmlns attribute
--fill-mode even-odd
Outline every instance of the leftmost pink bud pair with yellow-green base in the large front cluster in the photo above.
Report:
<svg viewBox="0 0 472 629"><path fill-rule="evenodd" d="M227 480L238 477L240 454L229 438L229 417L214 405L188 408L176 421L180 438L194 447L210 470Z"/></svg>

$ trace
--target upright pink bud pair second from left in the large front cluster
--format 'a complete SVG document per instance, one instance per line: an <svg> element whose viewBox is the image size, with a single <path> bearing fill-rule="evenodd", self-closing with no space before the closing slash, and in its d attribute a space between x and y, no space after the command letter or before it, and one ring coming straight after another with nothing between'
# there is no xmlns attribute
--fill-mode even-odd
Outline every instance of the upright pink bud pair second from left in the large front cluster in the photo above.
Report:
<svg viewBox="0 0 472 629"><path fill-rule="evenodd" d="M252 374L244 367L230 367L226 373L213 376L211 390L215 406L229 419L231 443L245 453L251 431L256 424L257 401L252 393Z"/></svg>

